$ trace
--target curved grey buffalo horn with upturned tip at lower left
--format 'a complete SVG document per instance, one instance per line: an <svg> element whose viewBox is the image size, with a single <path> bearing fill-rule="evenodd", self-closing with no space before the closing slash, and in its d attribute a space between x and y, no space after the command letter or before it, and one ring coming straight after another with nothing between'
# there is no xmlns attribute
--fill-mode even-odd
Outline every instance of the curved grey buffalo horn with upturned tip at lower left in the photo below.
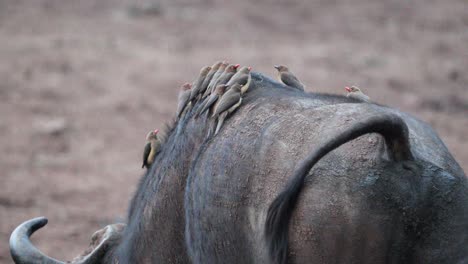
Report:
<svg viewBox="0 0 468 264"><path fill-rule="evenodd" d="M19 225L10 236L10 253L16 264L44 263L64 264L48 257L37 249L29 237L39 228L47 224L47 218L37 217Z"/></svg>

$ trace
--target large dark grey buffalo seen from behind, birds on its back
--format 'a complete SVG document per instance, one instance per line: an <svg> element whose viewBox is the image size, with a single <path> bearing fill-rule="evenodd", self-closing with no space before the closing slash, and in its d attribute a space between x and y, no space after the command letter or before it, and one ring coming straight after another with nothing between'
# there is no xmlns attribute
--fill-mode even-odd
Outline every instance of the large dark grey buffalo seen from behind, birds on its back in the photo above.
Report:
<svg viewBox="0 0 468 264"><path fill-rule="evenodd" d="M468 184L426 123L252 74L216 136L196 104L168 130L125 228L75 263L468 263ZM16 263L61 263L12 234ZM65 250L65 249L64 249Z"/></svg>

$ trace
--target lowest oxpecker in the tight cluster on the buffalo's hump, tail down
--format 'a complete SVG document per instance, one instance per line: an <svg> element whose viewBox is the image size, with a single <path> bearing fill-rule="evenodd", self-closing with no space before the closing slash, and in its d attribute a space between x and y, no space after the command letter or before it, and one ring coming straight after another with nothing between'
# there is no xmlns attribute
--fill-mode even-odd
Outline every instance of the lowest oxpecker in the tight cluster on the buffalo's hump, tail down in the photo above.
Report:
<svg viewBox="0 0 468 264"><path fill-rule="evenodd" d="M219 130L223 126L224 120L232 112L242 104L241 96L241 85L236 83L230 87L230 89L221 96L219 102L215 106L212 117L218 120L216 125L215 135L218 134Z"/></svg>

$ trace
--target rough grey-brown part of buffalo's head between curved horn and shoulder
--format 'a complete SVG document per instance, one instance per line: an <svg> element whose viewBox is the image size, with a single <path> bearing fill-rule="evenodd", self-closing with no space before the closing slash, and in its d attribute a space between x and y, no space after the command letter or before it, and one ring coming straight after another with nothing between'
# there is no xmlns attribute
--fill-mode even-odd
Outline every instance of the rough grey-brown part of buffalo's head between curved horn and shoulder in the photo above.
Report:
<svg viewBox="0 0 468 264"><path fill-rule="evenodd" d="M88 249L74 258L71 263L102 263L108 250L115 247L120 242L124 229L125 224L112 224L94 232Z"/></svg>

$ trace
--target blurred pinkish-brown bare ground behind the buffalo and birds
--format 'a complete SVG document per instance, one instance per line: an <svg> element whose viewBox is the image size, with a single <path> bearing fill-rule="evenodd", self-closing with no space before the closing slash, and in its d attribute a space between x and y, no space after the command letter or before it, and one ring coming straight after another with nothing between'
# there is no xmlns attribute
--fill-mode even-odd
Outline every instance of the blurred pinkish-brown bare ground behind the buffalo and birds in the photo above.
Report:
<svg viewBox="0 0 468 264"><path fill-rule="evenodd" d="M71 260L125 219L149 130L228 59L430 123L468 171L466 0L0 0L0 263L22 221Z"/></svg>

